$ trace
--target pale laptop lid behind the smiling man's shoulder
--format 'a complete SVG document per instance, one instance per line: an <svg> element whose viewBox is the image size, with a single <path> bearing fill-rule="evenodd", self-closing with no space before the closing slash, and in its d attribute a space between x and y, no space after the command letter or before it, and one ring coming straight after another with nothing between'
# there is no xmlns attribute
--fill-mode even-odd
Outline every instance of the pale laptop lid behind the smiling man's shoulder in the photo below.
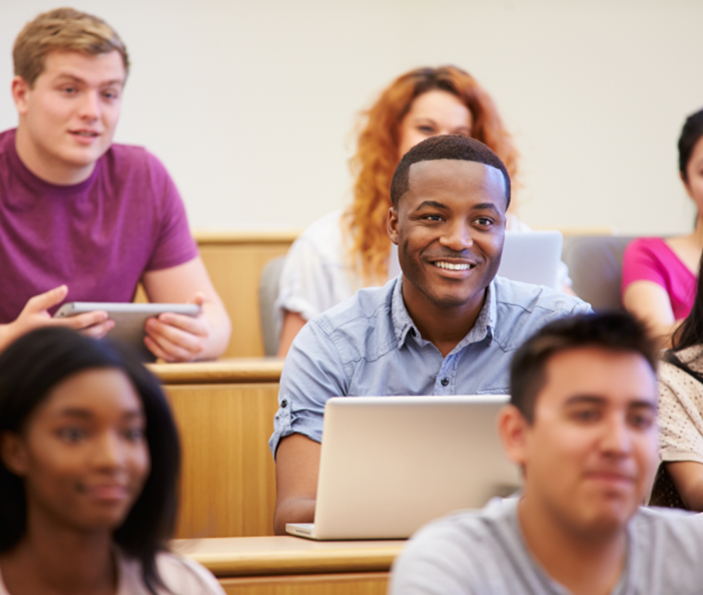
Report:
<svg viewBox="0 0 703 595"><path fill-rule="evenodd" d="M498 275L511 281L562 289L559 263L564 236L560 231L506 231Z"/></svg>

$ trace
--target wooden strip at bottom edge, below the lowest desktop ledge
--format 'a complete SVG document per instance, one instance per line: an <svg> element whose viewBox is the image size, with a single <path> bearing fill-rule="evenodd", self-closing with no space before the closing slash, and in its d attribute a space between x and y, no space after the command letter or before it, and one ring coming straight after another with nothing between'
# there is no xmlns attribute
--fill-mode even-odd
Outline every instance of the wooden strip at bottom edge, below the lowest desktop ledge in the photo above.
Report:
<svg viewBox="0 0 703 595"><path fill-rule="evenodd" d="M385 595L388 573L224 578L228 595Z"/></svg>

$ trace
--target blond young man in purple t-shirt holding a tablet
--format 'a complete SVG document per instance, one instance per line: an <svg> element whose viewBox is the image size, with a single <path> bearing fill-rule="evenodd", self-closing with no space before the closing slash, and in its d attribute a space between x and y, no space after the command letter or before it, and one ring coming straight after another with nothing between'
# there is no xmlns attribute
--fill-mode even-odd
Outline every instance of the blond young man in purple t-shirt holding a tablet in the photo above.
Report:
<svg viewBox="0 0 703 595"><path fill-rule="evenodd" d="M28 23L13 48L16 129L0 133L0 350L42 325L103 336L96 311L53 320L63 301L198 303L198 318L162 314L146 346L167 361L216 358L229 318L188 231L164 166L112 143L129 72L103 20L71 8Z"/></svg>

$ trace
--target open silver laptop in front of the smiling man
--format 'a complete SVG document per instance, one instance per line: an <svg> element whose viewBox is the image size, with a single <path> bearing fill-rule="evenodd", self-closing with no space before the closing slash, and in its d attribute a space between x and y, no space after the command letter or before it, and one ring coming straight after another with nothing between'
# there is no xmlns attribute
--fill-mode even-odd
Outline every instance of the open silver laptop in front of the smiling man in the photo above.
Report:
<svg viewBox="0 0 703 595"><path fill-rule="evenodd" d="M479 508L520 486L496 416L506 395L337 397L328 400L316 540L403 539L453 510Z"/></svg>

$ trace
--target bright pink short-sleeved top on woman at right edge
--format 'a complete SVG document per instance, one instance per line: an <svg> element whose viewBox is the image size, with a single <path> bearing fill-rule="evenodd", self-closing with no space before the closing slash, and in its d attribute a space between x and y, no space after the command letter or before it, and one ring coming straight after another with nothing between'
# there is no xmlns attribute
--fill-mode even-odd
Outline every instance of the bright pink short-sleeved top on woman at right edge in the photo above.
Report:
<svg viewBox="0 0 703 595"><path fill-rule="evenodd" d="M696 297L696 275L661 237L640 237L625 249L620 294L634 281L653 281L664 287L676 320L690 313Z"/></svg>

